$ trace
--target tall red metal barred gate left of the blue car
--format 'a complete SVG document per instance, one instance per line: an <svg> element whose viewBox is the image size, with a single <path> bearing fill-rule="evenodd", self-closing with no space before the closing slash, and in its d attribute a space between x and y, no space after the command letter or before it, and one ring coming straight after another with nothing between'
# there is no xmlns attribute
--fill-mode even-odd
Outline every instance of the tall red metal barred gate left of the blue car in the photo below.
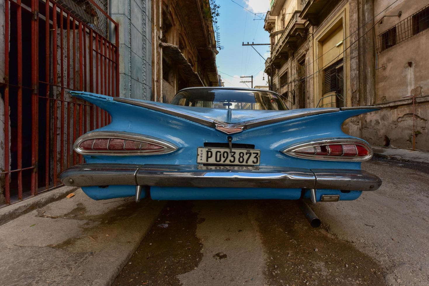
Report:
<svg viewBox="0 0 429 286"><path fill-rule="evenodd" d="M118 96L119 34L94 0L84 2L90 15L101 15L105 31L52 0L4 1L0 193L4 189L3 202L10 204L59 186L60 172L83 162L73 151L76 138L110 122L105 111L67 91Z"/></svg>

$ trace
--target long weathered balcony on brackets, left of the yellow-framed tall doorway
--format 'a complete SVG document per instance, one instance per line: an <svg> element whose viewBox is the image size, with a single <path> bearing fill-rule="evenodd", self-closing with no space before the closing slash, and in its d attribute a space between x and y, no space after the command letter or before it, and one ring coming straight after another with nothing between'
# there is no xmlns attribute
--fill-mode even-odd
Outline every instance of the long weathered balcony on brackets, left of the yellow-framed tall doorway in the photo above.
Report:
<svg viewBox="0 0 429 286"><path fill-rule="evenodd" d="M275 44L271 52L273 63L278 60L287 60L289 51L295 51L298 43L304 38L307 29L305 28L305 21L299 18L301 11L295 11L290 18L283 33ZM281 57L281 58L280 58Z"/></svg>

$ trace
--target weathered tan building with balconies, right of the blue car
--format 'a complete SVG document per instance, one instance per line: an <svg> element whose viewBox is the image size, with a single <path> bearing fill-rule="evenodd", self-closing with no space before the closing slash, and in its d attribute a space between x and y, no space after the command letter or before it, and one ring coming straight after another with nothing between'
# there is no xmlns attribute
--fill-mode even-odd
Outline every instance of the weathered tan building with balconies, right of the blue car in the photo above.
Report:
<svg viewBox="0 0 429 286"><path fill-rule="evenodd" d="M344 131L429 151L428 27L424 0L274 0L266 72L290 108L380 106Z"/></svg>

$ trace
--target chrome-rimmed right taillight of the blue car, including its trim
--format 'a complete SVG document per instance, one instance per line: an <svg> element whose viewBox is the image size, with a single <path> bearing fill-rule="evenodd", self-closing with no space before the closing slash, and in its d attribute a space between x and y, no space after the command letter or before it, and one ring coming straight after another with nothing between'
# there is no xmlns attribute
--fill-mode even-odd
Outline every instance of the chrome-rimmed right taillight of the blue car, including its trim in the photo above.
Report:
<svg viewBox="0 0 429 286"><path fill-rule="evenodd" d="M313 160L365 161L372 149L357 138L326 138L294 144L282 150L284 154Z"/></svg>

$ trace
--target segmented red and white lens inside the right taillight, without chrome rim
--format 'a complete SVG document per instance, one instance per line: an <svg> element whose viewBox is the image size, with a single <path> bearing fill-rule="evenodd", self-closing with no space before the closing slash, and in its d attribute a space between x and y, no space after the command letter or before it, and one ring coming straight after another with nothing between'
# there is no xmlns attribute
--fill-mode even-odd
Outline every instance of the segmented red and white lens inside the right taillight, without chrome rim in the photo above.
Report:
<svg viewBox="0 0 429 286"><path fill-rule="evenodd" d="M369 150L369 147L366 147L364 142L362 142L362 144L354 142L353 144L342 142L335 142L335 144L323 143L309 143L308 145L313 146L306 146L297 149L292 147L283 152L292 156L322 160L324 157L326 157L326 160L341 160L342 158L344 158L344 160L366 160L371 157L371 151Z"/></svg>

